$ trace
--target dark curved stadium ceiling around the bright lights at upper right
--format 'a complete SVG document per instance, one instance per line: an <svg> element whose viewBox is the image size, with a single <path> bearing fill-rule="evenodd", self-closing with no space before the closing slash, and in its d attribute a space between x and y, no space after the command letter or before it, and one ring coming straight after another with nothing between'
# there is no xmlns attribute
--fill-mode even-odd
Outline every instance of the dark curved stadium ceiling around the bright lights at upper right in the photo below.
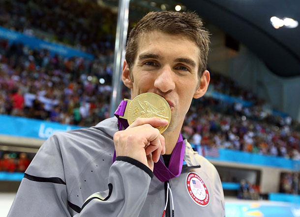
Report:
<svg viewBox="0 0 300 217"><path fill-rule="evenodd" d="M272 16L300 23L300 0L184 0L184 5L246 45L271 72L300 75L300 25L275 29L270 23Z"/></svg>

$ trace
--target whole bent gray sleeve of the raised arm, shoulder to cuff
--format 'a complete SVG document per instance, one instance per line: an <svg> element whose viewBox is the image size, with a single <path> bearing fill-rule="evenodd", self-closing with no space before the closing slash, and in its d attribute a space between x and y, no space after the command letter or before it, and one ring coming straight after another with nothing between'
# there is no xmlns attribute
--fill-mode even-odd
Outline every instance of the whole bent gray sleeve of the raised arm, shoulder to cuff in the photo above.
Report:
<svg viewBox="0 0 300 217"><path fill-rule="evenodd" d="M75 217L137 217L152 177L152 171L141 162L117 157L109 171L108 189L92 194ZM8 217L71 217L72 213L60 145L54 135L26 170Z"/></svg>

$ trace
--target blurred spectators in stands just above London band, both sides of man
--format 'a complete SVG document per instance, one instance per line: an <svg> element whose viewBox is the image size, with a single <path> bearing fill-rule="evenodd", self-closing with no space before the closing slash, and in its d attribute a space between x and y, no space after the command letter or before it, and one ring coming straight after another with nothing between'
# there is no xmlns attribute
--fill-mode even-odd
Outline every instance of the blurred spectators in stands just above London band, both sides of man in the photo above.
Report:
<svg viewBox="0 0 300 217"><path fill-rule="evenodd" d="M107 60L112 62L112 57ZM217 76L219 82L225 80ZM0 41L0 113L92 126L109 117L111 80L111 65L100 60L51 56L47 50ZM184 137L194 145L300 160L300 134L292 119L276 117L254 95L246 96L253 106L210 97L193 101ZM123 97L130 97L126 89Z"/></svg>

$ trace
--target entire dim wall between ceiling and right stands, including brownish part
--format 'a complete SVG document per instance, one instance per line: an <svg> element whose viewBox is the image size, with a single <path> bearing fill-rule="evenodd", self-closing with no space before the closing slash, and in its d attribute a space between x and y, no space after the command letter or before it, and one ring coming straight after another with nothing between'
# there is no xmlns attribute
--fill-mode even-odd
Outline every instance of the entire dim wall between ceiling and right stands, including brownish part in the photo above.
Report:
<svg viewBox="0 0 300 217"><path fill-rule="evenodd" d="M271 108L288 113L300 121L300 76L279 77L245 46L235 52L224 46L223 35L212 37L209 67L231 77L241 86L265 99ZM288 70L288 69L287 69Z"/></svg>

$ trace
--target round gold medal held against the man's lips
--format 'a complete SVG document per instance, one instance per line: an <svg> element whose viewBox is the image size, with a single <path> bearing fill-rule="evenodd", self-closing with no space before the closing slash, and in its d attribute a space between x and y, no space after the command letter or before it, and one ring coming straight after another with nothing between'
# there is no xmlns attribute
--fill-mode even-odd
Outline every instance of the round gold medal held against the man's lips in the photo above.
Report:
<svg viewBox="0 0 300 217"><path fill-rule="evenodd" d="M166 126L156 127L162 134L169 126L171 121L171 109L168 102L155 93L142 93L133 100L127 100L124 116L120 118L127 119L128 124L132 124L138 117L159 117L167 120Z"/></svg>

